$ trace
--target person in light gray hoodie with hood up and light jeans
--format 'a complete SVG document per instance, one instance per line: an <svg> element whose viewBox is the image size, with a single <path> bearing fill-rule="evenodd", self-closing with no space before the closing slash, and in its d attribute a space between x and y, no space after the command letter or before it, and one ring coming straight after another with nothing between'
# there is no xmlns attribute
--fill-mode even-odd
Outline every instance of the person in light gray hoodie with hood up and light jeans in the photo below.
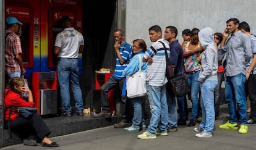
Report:
<svg viewBox="0 0 256 150"><path fill-rule="evenodd" d="M218 54L214 46L214 32L211 28L203 28L198 33L198 38L205 51L202 52L198 81L201 89L202 122L194 128L198 138L209 138L213 132L215 111L214 111L214 91L218 84Z"/></svg>

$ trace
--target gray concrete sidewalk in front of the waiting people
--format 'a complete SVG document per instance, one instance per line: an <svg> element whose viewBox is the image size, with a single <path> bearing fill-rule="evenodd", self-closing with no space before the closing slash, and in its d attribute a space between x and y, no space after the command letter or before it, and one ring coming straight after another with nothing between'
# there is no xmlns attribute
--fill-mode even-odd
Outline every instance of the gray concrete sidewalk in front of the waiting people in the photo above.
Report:
<svg viewBox="0 0 256 150"><path fill-rule="evenodd" d="M33 147L16 144L2 149L256 149L256 125L249 126L249 133L244 135L239 134L238 130L222 130L218 125L226 122L228 105L223 104L220 112L221 116L215 121L212 138L196 138L194 127L180 126L176 132L169 132L168 136L139 140L137 135L143 131L129 133L111 125L51 138L60 145L59 148L43 148L40 144ZM195 127L197 126L198 123Z"/></svg>

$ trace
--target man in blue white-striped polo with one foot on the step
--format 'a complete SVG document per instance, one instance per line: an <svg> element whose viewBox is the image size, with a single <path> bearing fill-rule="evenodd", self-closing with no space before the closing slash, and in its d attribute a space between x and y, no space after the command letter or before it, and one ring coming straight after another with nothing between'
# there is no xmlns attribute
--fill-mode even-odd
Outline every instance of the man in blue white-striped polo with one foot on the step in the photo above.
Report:
<svg viewBox="0 0 256 150"><path fill-rule="evenodd" d="M114 49L116 51L116 68L114 69L113 75L108 78L108 81L101 86L100 89L100 99L101 99L101 112L98 114L93 114L93 117L105 117L108 118L111 116L109 112L109 102L108 102L108 92L113 88L119 87L122 91L122 85L124 85L124 75L122 71L126 68L130 55L132 54L132 49L130 44L124 41L124 31L117 29L114 31ZM125 96L126 97L126 96ZM122 98L121 101L121 115L122 120L119 123L114 125L115 128L124 128L129 127L129 119L127 112L127 98Z"/></svg>

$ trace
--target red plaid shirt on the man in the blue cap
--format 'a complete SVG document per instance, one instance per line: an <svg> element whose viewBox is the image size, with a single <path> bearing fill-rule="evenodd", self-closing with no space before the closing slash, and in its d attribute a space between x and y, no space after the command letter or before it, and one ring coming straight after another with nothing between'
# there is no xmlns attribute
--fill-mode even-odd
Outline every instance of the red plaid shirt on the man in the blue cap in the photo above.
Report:
<svg viewBox="0 0 256 150"><path fill-rule="evenodd" d="M16 54L22 54L20 38L14 32L9 30L6 30L5 35L7 35L4 51L6 74L9 75L14 72L21 72L20 65L15 60Z"/></svg>

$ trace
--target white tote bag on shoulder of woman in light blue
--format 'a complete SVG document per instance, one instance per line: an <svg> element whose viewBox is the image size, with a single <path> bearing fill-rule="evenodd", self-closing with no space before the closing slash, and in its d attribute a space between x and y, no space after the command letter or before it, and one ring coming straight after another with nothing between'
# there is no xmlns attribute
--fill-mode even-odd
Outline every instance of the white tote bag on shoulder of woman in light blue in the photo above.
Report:
<svg viewBox="0 0 256 150"><path fill-rule="evenodd" d="M139 55L139 71L126 77L126 90L128 98L145 96L146 90L146 72L142 72L142 60Z"/></svg>

